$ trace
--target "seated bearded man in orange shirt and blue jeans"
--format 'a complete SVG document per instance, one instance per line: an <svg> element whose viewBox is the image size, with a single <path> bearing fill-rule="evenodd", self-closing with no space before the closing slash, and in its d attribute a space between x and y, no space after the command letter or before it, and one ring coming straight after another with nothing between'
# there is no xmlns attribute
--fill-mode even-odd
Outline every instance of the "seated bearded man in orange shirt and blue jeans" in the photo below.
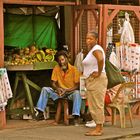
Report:
<svg viewBox="0 0 140 140"><path fill-rule="evenodd" d="M65 51L57 52L56 61L58 65L54 67L51 76L52 88L42 88L36 106L36 119L39 120L41 119L40 116L43 116L49 98L56 101L59 98L67 97L73 101L72 115L75 117L75 123L77 123L81 108L81 96L78 90L80 73L76 67L68 62L68 55Z"/></svg>

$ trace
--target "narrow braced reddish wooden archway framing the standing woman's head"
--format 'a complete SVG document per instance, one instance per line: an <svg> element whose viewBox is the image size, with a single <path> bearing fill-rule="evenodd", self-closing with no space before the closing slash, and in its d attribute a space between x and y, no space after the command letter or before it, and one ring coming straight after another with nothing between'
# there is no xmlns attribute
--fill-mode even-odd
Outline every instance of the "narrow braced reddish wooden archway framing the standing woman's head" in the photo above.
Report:
<svg viewBox="0 0 140 140"><path fill-rule="evenodd" d="M78 52L80 48L80 29L79 23L81 22L81 18L84 12L90 11L92 14L92 18L95 19L96 25L98 25L98 33L99 33L99 40L98 43L102 45L102 5L78 5L74 8L74 34L75 34L75 53ZM99 12L99 14L97 13ZM94 27L95 29L96 27ZM87 31L88 32L88 29ZM86 36L86 34L85 34Z"/></svg>

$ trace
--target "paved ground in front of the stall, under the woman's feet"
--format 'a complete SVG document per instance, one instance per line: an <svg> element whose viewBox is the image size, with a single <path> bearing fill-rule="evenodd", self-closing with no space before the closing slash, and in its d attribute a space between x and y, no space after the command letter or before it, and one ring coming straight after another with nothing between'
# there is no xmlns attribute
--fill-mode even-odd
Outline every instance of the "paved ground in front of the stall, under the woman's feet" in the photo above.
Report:
<svg viewBox="0 0 140 140"><path fill-rule="evenodd" d="M140 119L134 120L134 127L120 128L105 123L103 136L84 136L89 130L83 124L80 126L52 126L52 120L48 121L7 121L5 129L0 130L0 140L140 140Z"/></svg>

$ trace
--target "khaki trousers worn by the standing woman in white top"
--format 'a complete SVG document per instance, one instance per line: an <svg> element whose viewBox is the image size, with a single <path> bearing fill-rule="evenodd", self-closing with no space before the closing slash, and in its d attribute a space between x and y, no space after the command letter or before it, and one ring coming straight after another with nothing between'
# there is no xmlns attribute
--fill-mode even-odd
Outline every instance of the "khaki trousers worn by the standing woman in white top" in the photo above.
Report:
<svg viewBox="0 0 140 140"><path fill-rule="evenodd" d="M104 123L104 99L107 89L107 77L102 73L98 78L86 79L89 112L96 124Z"/></svg>

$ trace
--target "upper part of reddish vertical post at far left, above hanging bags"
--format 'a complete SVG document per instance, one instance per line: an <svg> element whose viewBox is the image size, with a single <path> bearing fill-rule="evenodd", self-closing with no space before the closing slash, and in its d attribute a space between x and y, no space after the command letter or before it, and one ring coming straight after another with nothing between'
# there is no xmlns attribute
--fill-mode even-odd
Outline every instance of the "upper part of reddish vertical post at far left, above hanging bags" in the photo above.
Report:
<svg viewBox="0 0 140 140"><path fill-rule="evenodd" d="M4 21L2 0L0 0L0 67L4 67Z"/></svg>

